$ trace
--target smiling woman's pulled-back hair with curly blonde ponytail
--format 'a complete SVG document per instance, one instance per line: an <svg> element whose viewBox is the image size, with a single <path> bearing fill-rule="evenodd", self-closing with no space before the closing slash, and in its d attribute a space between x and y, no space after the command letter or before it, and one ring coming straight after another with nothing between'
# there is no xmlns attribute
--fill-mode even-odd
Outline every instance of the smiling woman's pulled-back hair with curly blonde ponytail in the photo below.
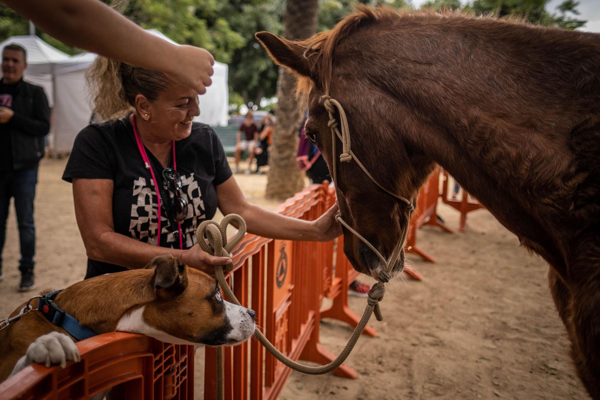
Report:
<svg viewBox="0 0 600 400"><path fill-rule="evenodd" d="M171 83L162 72L101 56L89 67L86 79L93 112L100 121L124 117L134 110L136 95L155 100Z"/></svg>

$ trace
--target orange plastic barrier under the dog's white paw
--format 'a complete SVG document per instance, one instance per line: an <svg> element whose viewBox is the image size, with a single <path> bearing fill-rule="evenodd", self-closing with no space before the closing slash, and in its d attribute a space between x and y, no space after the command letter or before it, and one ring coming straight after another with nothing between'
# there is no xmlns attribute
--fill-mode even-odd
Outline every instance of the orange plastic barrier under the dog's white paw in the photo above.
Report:
<svg viewBox="0 0 600 400"><path fill-rule="evenodd" d="M81 362L32 364L0 384L0 399L88 399L121 385L125 399L194 398L194 347L112 332L77 343Z"/></svg>

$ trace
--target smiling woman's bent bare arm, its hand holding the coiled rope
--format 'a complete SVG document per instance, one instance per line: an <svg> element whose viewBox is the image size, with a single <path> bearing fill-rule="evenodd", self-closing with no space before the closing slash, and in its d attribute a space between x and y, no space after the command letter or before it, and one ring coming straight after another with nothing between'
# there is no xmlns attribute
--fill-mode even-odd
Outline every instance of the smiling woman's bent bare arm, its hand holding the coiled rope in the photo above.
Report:
<svg viewBox="0 0 600 400"><path fill-rule="evenodd" d="M170 253L190 267L209 273L214 273L210 265L229 264L229 258L211 256L197 244L188 250L167 249L116 233L112 195L110 179L73 179L75 217L89 258L135 269L143 268L155 256Z"/></svg>

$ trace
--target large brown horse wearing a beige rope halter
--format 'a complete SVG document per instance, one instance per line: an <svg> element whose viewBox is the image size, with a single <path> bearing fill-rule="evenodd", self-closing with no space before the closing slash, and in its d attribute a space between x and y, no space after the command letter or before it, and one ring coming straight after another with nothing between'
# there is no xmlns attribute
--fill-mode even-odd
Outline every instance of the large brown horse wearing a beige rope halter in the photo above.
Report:
<svg viewBox="0 0 600 400"><path fill-rule="evenodd" d="M385 189L414 198L438 163L548 261L578 375L600 399L600 35L359 7L308 40L257 38L298 74L330 169L341 145L332 154L326 89ZM344 219L387 257L406 205L355 162L337 170ZM356 270L381 268L347 229L344 252Z"/></svg>

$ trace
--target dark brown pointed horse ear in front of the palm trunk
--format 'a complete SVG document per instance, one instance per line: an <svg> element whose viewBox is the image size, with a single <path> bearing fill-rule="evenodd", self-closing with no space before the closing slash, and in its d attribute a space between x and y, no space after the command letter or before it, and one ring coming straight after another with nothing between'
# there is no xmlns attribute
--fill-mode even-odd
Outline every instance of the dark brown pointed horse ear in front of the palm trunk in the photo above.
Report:
<svg viewBox="0 0 600 400"><path fill-rule="evenodd" d="M304 56L305 46L297 41L277 37L271 32L257 32L254 36L277 64L301 75L311 76L308 59Z"/></svg>

